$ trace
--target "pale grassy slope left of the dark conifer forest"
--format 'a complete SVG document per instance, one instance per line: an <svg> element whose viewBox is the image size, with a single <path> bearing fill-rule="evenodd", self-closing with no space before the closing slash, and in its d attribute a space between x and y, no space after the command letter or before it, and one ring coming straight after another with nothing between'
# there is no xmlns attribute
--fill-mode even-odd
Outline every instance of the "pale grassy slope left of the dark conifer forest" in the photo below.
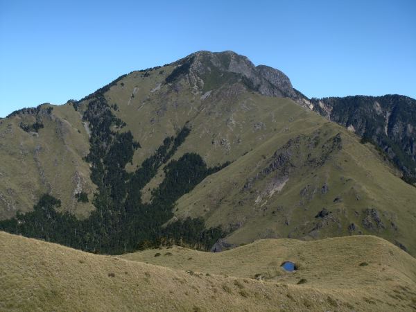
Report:
<svg viewBox="0 0 416 312"><path fill-rule="evenodd" d="M44 128L36 135L21 130L19 123L35 122L31 115L13 116L0 124L0 218L10 218L17 210L28 211L42 193L60 198L62 209L86 216L91 204L73 198L77 184L90 194L95 187L89 167L88 135L80 114L70 105L54 106L43 114ZM78 132L79 130L79 132Z"/></svg>

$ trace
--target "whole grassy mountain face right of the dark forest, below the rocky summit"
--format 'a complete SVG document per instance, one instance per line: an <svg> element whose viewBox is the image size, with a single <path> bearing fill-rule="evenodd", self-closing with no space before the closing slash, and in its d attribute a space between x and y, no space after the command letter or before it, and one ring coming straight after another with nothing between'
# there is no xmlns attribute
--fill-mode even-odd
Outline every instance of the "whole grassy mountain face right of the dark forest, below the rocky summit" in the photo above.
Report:
<svg viewBox="0 0 416 312"><path fill-rule="evenodd" d="M173 135L187 122L191 135L174 158L195 152L209 166L233 162L183 196L177 202L177 217L203 216L209 226L237 228L228 237L236 244L263 238L342 236L349 234L347 228L354 223L356 230L352 234L376 234L391 242L399 241L415 254L416 189L401 181L372 146L363 146L345 128L287 98L260 96L239 84L225 85L209 95L190 87L186 79L175 87L164 85L172 69L162 67L148 76L130 73L111 87L106 98L110 105L117 103L119 110L114 113L127 123L124 130L131 130L142 146L133 166L138 166L164 137ZM340 133L342 150L332 153L324 166L312 168L304 166L310 151L303 142L297 160L299 168L290 174L281 191L272 196L267 192L275 181L274 175L258 180L248 192L241 191L245 182L266 168L273 153L289 139L315 132L319 132L319 146ZM312 154L319 157L319 153L318 148ZM162 182L163 176L161 168L144 188L144 200L150 200L150 191ZM329 186L326 194L320 192L324 183ZM311 196L300 194L305 187L311 189ZM340 201L333 202L335 198ZM316 219L324 207L331 215L322 221ZM383 227L363 226L366 209L378 211ZM320 228L314 230L317 223L321 223Z"/></svg>

